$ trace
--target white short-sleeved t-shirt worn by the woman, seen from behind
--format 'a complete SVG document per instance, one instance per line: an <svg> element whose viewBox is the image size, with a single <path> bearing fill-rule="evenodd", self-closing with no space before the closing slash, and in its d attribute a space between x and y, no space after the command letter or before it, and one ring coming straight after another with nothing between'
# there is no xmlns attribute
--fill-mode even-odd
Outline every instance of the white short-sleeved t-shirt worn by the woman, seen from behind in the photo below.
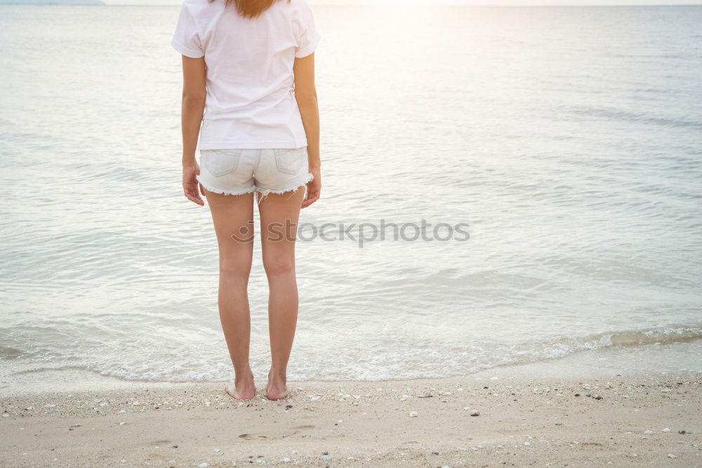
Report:
<svg viewBox="0 0 702 468"><path fill-rule="evenodd" d="M293 62L314 52L319 34L304 0L277 0L244 18L223 0L185 0L171 45L205 58L200 149L307 145L295 100Z"/></svg>

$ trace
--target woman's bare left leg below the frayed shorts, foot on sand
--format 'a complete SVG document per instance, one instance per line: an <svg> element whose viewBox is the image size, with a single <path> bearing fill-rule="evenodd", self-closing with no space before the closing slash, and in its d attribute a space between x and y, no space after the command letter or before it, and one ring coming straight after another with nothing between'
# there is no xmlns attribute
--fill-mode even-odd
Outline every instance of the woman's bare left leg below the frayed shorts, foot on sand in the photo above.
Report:
<svg viewBox="0 0 702 468"><path fill-rule="evenodd" d="M219 245L220 321L235 373L234 384L225 392L235 399L251 399L256 387L249 366L251 315L247 287L253 258L253 194L204 194Z"/></svg>

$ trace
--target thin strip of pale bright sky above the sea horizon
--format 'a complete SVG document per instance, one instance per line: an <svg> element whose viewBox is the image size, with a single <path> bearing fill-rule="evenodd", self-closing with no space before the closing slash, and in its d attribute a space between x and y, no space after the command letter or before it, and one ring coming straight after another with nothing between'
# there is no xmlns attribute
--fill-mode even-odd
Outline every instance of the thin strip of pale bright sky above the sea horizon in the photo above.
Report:
<svg viewBox="0 0 702 468"><path fill-rule="evenodd" d="M103 0L110 5L180 5L180 0ZM310 5L698 5L702 0L307 0Z"/></svg>

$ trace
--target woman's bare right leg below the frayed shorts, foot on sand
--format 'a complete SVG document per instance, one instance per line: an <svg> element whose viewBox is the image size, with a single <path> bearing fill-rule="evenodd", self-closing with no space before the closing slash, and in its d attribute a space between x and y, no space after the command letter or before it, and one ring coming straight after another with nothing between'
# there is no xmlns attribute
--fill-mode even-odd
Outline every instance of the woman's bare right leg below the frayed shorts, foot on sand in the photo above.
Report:
<svg viewBox="0 0 702 468"><path fill-rule="evenodd" d="M271 367L266 396L272 400L283 399L290 394L286 386L286 373L298 320L295 236L304 195L304 189L269 194L259 204L263 267L269 288Z"/></svg>

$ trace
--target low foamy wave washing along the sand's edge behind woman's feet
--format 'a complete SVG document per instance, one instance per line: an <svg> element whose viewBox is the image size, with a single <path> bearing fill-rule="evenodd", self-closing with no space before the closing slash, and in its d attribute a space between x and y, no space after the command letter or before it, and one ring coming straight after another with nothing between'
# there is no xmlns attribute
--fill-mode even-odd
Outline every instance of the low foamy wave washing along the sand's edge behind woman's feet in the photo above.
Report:
<svg viewBox="0 0 702 468"><path fill-rule="evenodd" d="M639 330L605 331L583 336L559 336L548 340L521 342L514 345L504 343L470 346L434 346L402 349L372 349L372 352L356 355L345 353L345 361L340 356L309 352L309 349L295 354L289 375L291 380L404 380L413 378L451 377L470 375L480 370L536 363L560 359L571 354L603 348L633 348L651 345L667 345L691 342L702 338L702 325L672 325ZM301 348L305 344L300 345ZM319 350L319 349L318 349ZM366 350L367 351L367 350ZM0 352L16 349L0 348ZM159 356L160 354L160 356ZM143 382L220 382L232 377L230 363L225 352L218 359L213 353L183 353L178 361L172 361L168 354L120 354L119 356L93 356L81 361L73 359L25 362L15 375L60 371L66 369L88 370L98 375L117 377L121 380ZM312 356L312 359L305 359ZM5 357L5 356L4 356ZM32 358L32 361L36 356ZM261 370L262 369L256 369Z"/></svg>

